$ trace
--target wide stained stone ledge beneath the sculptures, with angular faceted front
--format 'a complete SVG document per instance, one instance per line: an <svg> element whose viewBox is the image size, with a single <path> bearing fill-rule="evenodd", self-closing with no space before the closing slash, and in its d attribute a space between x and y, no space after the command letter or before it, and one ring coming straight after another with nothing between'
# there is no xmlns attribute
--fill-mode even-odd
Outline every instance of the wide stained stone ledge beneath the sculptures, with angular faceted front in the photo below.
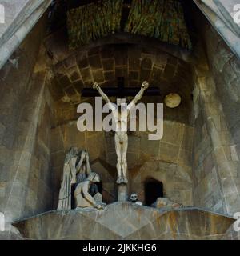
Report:
<svg viewBox="0 0 240 256"><path fill-rule="evenodd" d="M100 211L52 211L14 226L31 239L210 240L222 238L233 222L198 208L161 211L115 202Z"/></svg>

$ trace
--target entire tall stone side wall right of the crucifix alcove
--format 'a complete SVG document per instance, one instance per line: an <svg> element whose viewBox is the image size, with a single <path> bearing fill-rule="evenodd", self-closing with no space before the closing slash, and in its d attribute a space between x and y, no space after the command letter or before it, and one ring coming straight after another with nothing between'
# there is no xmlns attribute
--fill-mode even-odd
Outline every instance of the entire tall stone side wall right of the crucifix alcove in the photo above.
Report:
<svg viewBox="0 0 240 256"><path fill-rule="evenodd" d="M194 203L234 214L240 209L239 60L205 18L196 18L206 59L196 69Z"/></svg>

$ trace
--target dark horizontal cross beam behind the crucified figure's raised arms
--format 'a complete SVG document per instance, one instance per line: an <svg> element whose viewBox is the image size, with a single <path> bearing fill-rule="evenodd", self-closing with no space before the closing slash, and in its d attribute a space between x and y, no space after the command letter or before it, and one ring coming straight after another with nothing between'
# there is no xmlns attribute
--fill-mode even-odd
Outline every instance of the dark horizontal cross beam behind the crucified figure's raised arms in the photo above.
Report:
<svg viewBox="0 0 240 256"><path fill-rule="evenodd" d="M109 97L118 97L124 98L125 96L135 96L138 94L140 87L128 87L124 86L124 78L118 78L118 86L117 87L108 87L102 88L103 92ZM158 87L149 86L146 89L144 96L160 96L160 90ZM97 97L99 96L98 91L92 88L84 88L82 89L82 97Z"/></svg>

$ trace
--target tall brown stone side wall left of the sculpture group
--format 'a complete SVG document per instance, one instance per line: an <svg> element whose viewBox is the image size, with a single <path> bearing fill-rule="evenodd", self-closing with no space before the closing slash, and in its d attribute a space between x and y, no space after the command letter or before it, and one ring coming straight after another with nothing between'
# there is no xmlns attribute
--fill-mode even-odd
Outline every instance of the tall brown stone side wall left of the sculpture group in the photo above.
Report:
<svg viewBox="0 0 240 256"><path fill-rule="evenodd" d="M6 222L49 210L50 94L33 74L45 28L40 20L1 70L0 211Z"/></svg>

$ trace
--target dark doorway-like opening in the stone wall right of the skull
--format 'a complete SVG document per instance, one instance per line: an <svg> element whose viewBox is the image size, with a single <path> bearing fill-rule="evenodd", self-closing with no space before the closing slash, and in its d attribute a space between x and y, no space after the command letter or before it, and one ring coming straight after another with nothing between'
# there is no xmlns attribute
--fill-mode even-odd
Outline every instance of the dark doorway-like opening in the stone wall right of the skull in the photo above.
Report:
<svg viewBox="0 0 240 256"><path fill-rule="evenodd" d="M146 178L144 182L145 204L151 206L157 198L163 197L163 184L154 178Z"/></svg>

